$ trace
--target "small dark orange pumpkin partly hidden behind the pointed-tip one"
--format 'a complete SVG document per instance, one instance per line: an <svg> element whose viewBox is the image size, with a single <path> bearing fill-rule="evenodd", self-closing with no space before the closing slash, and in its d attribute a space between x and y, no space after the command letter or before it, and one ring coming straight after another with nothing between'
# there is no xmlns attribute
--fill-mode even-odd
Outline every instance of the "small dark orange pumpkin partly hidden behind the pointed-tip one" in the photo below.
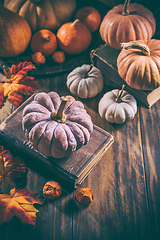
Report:
<svg viewBox="0 0 160 240"><path fill-rule="evenodd" d="M94 7L86 6L80 8L75 14L75 19L79 19L91 32L95 32L101 22L101 15Z"/></svg>

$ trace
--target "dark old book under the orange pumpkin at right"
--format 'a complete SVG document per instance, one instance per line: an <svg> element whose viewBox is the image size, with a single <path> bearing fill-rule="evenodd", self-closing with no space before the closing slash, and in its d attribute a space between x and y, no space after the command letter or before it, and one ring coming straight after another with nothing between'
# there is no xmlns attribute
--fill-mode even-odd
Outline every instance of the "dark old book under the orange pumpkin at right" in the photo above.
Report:
<svg viewBox="0 0 160 240"><path fill-rule="evenodd" d="M137 101L142 102L146 107L151 107L160 99L160 87L153 91L137 90L130 87L117 71L119 53L120 50L104 44L91 52L91 61L101 71L106 85L121 89L124 84L125 90L133 95Z"/></svg>

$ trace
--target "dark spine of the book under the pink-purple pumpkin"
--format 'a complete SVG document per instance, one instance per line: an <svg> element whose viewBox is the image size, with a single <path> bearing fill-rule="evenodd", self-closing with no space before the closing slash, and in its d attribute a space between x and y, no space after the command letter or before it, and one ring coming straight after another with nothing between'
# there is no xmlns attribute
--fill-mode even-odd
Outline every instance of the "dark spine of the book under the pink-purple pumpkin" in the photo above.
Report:
<svg viewBox="0 0 160 240"><path fill-rule="evenodd" d="M33 150L28 144L14 139L5 130L0 130L0 144L22 157L29 167L33 167L40 172L42 171L42 174L43 172L49 172L49 175L58 178L59 181L62 179L62 185L67 184L67 187L75 188L76 176L48 161L47 157Z"/></svg>

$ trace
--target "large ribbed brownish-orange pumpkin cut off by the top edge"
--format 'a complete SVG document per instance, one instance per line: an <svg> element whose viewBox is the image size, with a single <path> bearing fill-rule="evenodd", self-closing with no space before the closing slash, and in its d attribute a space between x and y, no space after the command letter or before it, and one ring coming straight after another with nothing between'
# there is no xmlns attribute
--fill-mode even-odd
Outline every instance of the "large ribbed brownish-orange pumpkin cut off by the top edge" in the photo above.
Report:
<svg viewBox="0 0 160 240"><path fill-rule="evenodd" d="M70 20L75 9L75 0L4 0L4 6L29 23L32 32L49 29L56 31Z"/></svg>

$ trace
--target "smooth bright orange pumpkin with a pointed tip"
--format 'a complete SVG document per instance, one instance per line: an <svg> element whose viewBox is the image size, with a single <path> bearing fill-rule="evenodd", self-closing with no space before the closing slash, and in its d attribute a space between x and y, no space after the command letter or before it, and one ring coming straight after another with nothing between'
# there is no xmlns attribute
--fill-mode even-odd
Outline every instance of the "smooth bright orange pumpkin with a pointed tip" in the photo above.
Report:
<svg viewBox="0 0 160 240"><path fill-rule="evenodd" d="M85 51L92 40L90 30L76 19L63 24L57 32L59 47L68 54L78 54Z"/></svg>

